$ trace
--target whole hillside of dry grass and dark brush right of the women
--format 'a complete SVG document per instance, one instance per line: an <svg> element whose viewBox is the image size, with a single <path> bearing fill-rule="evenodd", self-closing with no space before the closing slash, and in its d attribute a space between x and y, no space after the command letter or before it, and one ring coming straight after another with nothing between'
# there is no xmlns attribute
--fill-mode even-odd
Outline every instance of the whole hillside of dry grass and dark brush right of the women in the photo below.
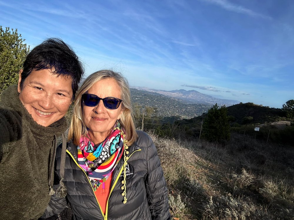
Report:
<svg viewBox="0 0 294 220"><path fill-rule="evenodd" d="M173 218L293 220L293 126L269 123L286 120L281 109L253 103L230 106L228 114L235 121L230 141L221 146L198 141L205 114L164 125L153 122L156 135L151 136ZM247 126L241 125L245 116L253 117ZM257 125L259 132L254 131Z"/></svg>

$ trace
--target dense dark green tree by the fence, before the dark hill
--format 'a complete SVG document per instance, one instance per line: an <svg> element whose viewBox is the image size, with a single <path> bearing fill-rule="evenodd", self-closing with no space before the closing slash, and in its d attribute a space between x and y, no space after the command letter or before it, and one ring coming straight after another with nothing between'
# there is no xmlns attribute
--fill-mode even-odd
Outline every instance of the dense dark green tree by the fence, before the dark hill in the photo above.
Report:
<svg viewBox="0 0 294 220"><path fill-rule="evenodd" d="M203 137L208 141L216 141L221 144L230 139L228 110L225 105L219 108L216 103L208 110L203 123Z"/></svg>

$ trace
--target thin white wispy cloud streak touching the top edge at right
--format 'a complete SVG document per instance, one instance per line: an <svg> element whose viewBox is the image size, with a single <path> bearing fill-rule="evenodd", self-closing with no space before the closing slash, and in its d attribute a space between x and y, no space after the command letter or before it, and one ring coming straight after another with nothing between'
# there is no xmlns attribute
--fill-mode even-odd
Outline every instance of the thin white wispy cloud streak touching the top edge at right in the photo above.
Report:
<svg viewBox="0 0 294 220"><path fill-rule="evenodd" d="M245 14L245 15L248 15L248 16L251 16L254 18L263 18L263 19L268 19L268 20L272 19L270 16L266 16L266 15L257 13L255 11L252 11L251 9L247 9L241 5L236 5L236 4L230 3L227 0L202 0L202 1L206 1L211 4L218 5L228 11L233 11L233 12L240 13L240 14Z"/></svg>

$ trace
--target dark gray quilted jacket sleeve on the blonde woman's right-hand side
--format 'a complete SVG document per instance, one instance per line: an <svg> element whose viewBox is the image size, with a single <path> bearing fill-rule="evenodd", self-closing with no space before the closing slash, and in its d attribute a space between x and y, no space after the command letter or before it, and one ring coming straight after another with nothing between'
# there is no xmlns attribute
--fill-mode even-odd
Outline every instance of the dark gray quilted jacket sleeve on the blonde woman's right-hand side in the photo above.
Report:
<svg viewBox="0 0 294 220"><path fill-rule="evenodd" d="M146 192L152 220L170 219L168 190L156 147L148 136Z"/></svg>

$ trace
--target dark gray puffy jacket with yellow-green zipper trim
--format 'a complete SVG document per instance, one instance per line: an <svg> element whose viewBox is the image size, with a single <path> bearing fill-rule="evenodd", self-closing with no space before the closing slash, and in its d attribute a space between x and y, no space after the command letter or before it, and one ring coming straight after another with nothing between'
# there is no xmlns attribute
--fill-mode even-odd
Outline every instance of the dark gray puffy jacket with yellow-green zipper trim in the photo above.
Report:
<svg viewBox="0 0 294 220"><path fill-rule="evenodd" d="M113 171L111 191L104 215L86 173L77 165L76 145L67 143L64 184L74 219L83 220L167 220L170 219L168 190L156 147L151 138L137 131L138 140L129 147L126 169L126 197L123 204L123 158ZM56 175L59 177L61 148L56 152ZM59 177L60 178L60 177ZM57 181L58 182L58 181ZM52 196L43 217L61 212L65 198Z"/></svg>

